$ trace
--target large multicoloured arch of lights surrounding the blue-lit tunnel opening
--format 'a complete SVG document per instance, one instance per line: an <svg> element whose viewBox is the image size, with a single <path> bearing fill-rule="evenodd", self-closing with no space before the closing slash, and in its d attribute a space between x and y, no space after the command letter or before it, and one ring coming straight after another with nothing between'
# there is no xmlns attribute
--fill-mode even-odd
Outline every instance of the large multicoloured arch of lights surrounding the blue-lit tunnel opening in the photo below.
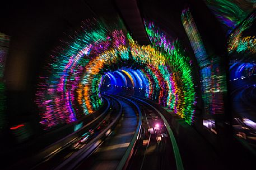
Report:
<svg viewBox="0 0 256 170"><path fill-rule="evenodd" d="M152 27L147 30L155 32ZM188 57L177 42L171 43L164 34L160 36L165 40L159 42L157 36L151 36L152 45L140 46L123 30L106 31L97 21L83 23L55 50L49 76L41 77L35 100L41 124L48 129L71 123L99 108L102 76L113 79L110 72L115 70L128 76L133 86L135 77L140 84L145 80L148 98L174 109L190 124L196 96ZM124 66L137 67L137 74L122 70Z"/></svg>

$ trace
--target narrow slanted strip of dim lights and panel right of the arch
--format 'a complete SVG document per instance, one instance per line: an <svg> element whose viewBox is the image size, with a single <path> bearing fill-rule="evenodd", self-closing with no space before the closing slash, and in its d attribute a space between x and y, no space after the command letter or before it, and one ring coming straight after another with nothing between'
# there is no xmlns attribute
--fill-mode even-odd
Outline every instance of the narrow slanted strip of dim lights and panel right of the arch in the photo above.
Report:
<svg viewBox="0 0 256 170"><path fill-rule="evenodd" d="M224 92L226 91L225 75L221 74L219 58L209 59L206 54L202 39L189 9L184 9L181 21L189 37L198 65L201 68L201 89L204 118L210 119L213 114L224 113Z"/></svg>

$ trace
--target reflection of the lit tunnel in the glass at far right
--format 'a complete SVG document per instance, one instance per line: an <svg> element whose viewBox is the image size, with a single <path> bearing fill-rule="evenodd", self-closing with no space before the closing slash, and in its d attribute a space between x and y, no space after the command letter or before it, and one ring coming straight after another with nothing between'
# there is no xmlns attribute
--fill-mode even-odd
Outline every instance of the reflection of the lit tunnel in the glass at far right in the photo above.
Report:
<svg viewBox="0 0 256 170"><path fill-rule="evenodd" d="M256 12L231 33L228 41L232 125L236 137L254 145L256 92ZM242 128L240 128L242 127ZM241 130L242 129L242 130ZM243 131L243 129L246 129ZM241 135L243 134L243 135Z"/></svg>

